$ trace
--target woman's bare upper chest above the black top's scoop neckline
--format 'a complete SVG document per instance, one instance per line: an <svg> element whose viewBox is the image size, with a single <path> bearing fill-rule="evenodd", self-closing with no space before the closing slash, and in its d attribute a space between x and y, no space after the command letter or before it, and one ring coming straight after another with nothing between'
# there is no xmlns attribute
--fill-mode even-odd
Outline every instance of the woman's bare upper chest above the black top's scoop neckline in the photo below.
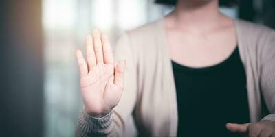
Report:
<svg viewBox="0 0 275 137"><path fill-rule="evenodd" d="M168 31L170 58L192 67L212 66L222 62L234 51L234 29L209 34Z"/></svg>

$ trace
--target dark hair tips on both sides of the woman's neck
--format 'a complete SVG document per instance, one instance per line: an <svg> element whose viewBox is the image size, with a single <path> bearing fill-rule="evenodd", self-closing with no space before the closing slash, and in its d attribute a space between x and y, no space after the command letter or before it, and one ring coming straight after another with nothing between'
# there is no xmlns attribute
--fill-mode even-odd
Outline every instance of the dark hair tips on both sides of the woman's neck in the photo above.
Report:
<svg viewBox="0 0 275 137"><path fill-rule="evenodd" d="M163 5L176 5L177 0L155 0L155 3L159 3ZM221 7L232 7L238 4L239 4L239 0L219 0L219 6Z"/></svg>

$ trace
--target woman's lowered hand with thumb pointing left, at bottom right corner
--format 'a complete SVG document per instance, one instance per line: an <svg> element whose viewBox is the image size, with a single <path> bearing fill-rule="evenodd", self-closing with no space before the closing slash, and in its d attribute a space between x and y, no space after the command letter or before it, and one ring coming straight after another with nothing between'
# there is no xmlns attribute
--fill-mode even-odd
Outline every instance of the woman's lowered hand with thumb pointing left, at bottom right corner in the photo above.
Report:
<svg viewBox="0 0 275 137"><path fill-rule="evenodd" d="M227 123L230 132L237 132L249 137L275 137L274 121L259 121L257 123L233 124Z"/></svg>

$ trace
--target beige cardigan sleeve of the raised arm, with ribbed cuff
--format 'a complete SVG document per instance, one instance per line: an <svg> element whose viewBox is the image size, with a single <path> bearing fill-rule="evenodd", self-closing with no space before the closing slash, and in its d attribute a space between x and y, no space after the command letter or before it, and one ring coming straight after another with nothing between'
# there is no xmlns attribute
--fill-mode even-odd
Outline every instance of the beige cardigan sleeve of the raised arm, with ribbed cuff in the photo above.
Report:
<svg viewBox="0 0 275 137"><path fill-rule="evenodd" d="M137 73L136 62L132 47L130 47L129 36L127 33L122 34L118 39L114 50L115 62L125 60L124 73L124 90L118 105L113 108L112 112L96 118L89 116L82 110L78 117L76 127L76 136L128 136L135 133L135 124L133 120L133 109L137 95ZM131 135L132 136L132 135Z"/></svg>

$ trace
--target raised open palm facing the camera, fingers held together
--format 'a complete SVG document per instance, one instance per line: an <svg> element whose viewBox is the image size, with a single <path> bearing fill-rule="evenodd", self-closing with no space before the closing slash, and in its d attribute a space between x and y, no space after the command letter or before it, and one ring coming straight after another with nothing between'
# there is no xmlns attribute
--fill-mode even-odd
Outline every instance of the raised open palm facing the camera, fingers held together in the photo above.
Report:
<svg viewBox="0 0 275 137"><path fill-rule="evenodd" d="M87 63L80 50L76 58L80 69L80 87L85 111L91 116L101 117L118 105L124 87L125 61L113 64L113 53L109 39L94 29L93 36L86 37Z"/></svg>

